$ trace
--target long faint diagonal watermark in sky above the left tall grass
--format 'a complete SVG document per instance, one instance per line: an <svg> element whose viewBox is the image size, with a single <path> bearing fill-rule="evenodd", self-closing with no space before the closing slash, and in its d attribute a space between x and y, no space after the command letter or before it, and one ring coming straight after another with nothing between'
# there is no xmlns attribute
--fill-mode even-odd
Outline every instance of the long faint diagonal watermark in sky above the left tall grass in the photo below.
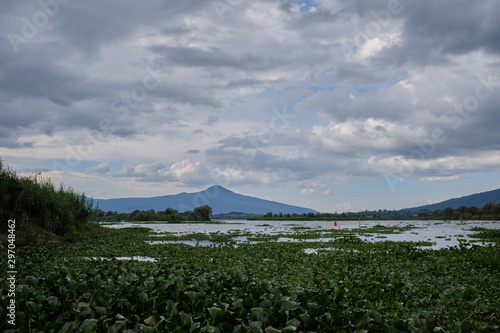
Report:
<svg viewBox="0 0 500 333"><path fill-rule="evenodd" d="M163 81L161 68L157 65L155 68L146 67L147 74L142 78L141 83L135 85L132 89L121 94L120 98L115 99L110 106L113 113L120 121L126 120L130 116L130 111L139 107L144 102L149 93L157 89ZM116 121L116 120L115 120ZM89 157L94 148L107 142L108 136L116 130L115 121L111 118L103 118L99 122L99 129L87 130L83 143L73 149L66 146L66 158L64 163L53 162L52 168L57 171L70 171L78 167L84 158Z"/></svg>

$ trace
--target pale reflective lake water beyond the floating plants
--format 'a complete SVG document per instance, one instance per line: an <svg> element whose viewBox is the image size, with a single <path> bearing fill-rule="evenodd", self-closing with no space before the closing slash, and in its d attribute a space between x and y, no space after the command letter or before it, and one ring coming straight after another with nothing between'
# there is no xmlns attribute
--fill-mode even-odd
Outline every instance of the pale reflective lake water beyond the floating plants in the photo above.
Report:
<svg viewBox="0 0 500 333"><path fill-rule="evenodd" d="M385 227L398 227L400 233L358 233L353 229L365 229L376 225ZM236 233L244 232L252 235L280 235L277 241L281 242L318 242L329 241L334 238L321 237L313 239L298 239L297 237L286 237L289 235L297 235L300 232L327 232L327 230L345 230L356 234L360 239L369 242L377 241L427 241L433 245L425 248L440 249L443 247L456 246L460 241L475 242L476 244L486 244L477 242L476 239L469 237L473 231L471 228L482 227L488 229L500 229L500 221L420 221L420 220L404 220L404 221L338 221L337 226L334 226L333 221L245 221L245 220L223 220L221 223L148 223L148 222L122 222L118 224L105 225L108 228L127 228L140 226L152 229L161 236L165 233L186 235L193 233ZM411 227L411 228L408 228ZM246 242L247 237L238 236L233 238L236 242ZM150 243L166 243L165 241L155 241L151 238ZM189 245L210 246L216 243L210 241L197 242L195 240L179 240L168 241L168 243L184 243ZM314 253L312 250L310 253Z"/></svg>

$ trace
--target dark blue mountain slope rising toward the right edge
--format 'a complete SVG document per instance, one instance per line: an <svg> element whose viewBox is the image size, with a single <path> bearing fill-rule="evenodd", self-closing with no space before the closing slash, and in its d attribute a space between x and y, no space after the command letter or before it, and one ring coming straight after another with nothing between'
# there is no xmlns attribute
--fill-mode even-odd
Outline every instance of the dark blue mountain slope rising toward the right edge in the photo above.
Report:
<svg viewBox="0 0 500 333"><path fill-rule="evenodd" d="M451 207L453 209L457 209L460 206L475 206L478 208L482 208L488 202L492 202L494 204L500 203L500 189L467 195L461 198L449 199L432 205L419 206L403 210L412 212L427 210L433 212L435 210L443 210L447 207Z"/></svg>

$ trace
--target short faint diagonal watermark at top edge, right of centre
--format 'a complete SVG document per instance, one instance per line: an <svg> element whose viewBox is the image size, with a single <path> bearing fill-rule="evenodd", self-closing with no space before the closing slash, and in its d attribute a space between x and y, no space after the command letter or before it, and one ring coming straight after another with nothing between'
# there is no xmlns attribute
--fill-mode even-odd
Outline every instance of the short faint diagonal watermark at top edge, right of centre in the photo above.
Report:
<svg viewBox="0 0 500 333"><path fill-rule="evenodd" d="M412 0L405 1L410 2ZM350 60L356 54L360 45L379 36L384 28L389 27L393 17L401 14L403 9L404 6L400 0L388 0L385 9L380 11L371 10L369 15L373 20L366 23L364 29L357 29L354 39L340 43L340 51L346 59Z"/></svg>

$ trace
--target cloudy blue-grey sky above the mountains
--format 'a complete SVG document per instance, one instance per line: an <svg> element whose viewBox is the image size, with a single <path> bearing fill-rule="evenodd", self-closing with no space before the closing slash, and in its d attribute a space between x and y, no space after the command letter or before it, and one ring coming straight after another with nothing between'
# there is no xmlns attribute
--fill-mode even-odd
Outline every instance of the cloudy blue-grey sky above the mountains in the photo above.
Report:
<svg viewBox="0 0 500 333"><path fill-rule="evenodd" d="M321 212L500 187L496 0L3 0L0 158Z"/></svg>

